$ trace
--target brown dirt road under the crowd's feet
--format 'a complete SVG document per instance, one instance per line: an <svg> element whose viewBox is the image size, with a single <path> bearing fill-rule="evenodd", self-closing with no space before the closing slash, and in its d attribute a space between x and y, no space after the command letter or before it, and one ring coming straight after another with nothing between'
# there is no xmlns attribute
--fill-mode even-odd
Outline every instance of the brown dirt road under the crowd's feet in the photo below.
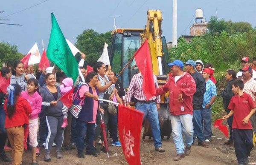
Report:
<svg viewBox="0 0 256 165"><path fill-rule="evenodd" d="M213 128L213 134L216 137L212 138L209 148L199 147L197 141L192 146L192 152L180 161L173 161L176 155L175 146L172 137L169 140L163 140L163 148L166 152L159 153L154 151L153 140L141 140L140 144L140 157L142 165L236 165L235 151L230 146L224 145L223 142L227 140L224 135ZM222 139L217 139L222 138ZM100 146L97 146L100 147ZM98 157L86 155L85 158L76 157L76 149L72 151L63 151L63 158L56 159L54 154L55 148L52 148L52 161L44 162L44 149L41 149L41 156L38 157L40 165L126 165L127 162L122 154L121 147L110 146L110 158L107 158L105 153L101 153ZM11 156L11 152L6 152ZM26 151L23 154L23 165L31 164L31 151ZM256 162L256 150L251 153L250 162ZM10 163L3 163L0 165L9 165Z"/></svg>

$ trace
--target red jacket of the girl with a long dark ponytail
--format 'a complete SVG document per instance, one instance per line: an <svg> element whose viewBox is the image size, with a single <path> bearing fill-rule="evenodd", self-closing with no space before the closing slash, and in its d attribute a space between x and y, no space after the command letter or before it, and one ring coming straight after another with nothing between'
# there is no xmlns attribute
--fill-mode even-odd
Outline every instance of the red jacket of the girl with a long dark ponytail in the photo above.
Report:
<svg viewBox="0 0 256 165"><path fill-rule="evenodd" d="M17 97L15 112L12 115L12 118L8 117L7 99L4 100L3 108L6 113L5 128L12 128L15 126L29 124L29 114L32 113L32 109L29 105L29 102L23 97Z"/></svg>

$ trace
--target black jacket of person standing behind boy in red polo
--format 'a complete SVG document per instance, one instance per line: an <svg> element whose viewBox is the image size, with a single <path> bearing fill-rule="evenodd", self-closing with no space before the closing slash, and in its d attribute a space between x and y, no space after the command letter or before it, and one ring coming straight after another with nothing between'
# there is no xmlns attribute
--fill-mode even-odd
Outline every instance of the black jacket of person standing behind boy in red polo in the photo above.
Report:
<svg viewBox="0 0 256 165"><path fill-rule="evenodd" d="M223 108L225 109L226 112L229 112L230 110L227 108L231 98L234 96L234 93L232 91L232 83L236 79L229 80L227 83L226 88L221 91L221 96L223 97Z"/></svg>

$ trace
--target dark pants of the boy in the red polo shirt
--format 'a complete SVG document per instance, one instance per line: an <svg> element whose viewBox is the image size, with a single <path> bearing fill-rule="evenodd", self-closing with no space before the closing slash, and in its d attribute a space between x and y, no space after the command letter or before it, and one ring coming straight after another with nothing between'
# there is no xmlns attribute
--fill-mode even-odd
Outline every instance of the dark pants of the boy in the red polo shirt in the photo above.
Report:
<svg viewBox="0 0 256 165"><path fill-rule="evenodd" d="M233 142L238 163L244 164L244 159L250 156L253 148L253 130L251 129L232 129Z"/></svg>

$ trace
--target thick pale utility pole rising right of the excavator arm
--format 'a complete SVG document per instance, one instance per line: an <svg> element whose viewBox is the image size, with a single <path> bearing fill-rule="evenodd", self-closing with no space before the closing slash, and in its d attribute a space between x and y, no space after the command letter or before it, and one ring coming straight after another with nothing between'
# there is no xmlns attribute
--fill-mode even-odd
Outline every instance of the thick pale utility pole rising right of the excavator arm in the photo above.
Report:
<svg viewBox="0 0 256 165"><path fill-rule="evenodd" d="M177 0L172 0L172 46L177 46Z"/></svg>

